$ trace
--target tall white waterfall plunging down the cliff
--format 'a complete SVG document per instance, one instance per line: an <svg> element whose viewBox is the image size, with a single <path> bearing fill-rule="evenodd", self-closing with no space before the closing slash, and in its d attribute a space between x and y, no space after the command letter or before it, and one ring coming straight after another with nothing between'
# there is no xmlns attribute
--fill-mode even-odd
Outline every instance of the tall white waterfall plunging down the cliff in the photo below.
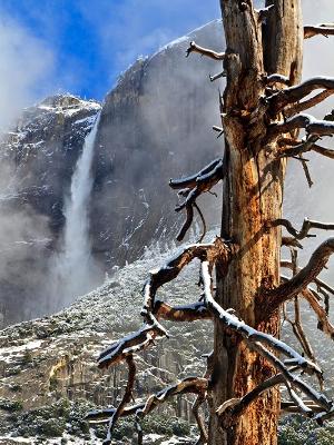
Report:
<svg viewBox="0 0 334 445"><path fill-rule="evenodd" d="M89 198L92 188L91 164L100 113L85 139L65 204L63 247L53 266L55 290L61 304L91 290L100 283L99 268L91 257Z"/></svg>

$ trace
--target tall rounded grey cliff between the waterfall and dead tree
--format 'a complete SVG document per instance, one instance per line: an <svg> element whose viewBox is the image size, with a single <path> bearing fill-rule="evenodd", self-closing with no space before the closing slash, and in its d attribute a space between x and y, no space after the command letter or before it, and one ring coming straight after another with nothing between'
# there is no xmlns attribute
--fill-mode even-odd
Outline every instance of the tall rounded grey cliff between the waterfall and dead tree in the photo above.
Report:
<svg viewBox="0 0 334 445"><path fill-rule="evenodd" d="M212 130L219 122L218 87L208 80L222 67L185 58L194 39L222 48L220 21L137 60L106 97L91 212L94 248L110 264L137 258L153 239L170 239L179 218L169 178L222 155Z"/></svg>

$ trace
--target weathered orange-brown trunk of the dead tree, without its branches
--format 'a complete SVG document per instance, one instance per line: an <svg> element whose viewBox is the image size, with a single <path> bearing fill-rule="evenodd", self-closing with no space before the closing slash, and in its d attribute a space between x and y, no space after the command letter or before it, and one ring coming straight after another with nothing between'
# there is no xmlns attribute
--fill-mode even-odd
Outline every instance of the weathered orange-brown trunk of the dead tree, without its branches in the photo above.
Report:
<svg viewBox="0 0 334 445"><path fill-rule="evenodd" d="M282 217L285 174L284 161L275 157L276 141L264 144L269 113L262 99L266 93L263 79L265 73L279 73L287 76L291 85L299 80L303 27L299 0L267 1L273 8L266 26L252 3L220 0L227 44L223 105L227 171L222 236L239 245L239 251L227 274L217 266L216 299L223 307L235 308L248 325L278 336L278 314L258 325L255 312L263 290L276 287L279 280L281 229L266 227ZM222 429L215 414L225 400L244 396L273 374L267 362L216 323L210 445L277 443L277 387L255 400L235 427Z"/></svg>

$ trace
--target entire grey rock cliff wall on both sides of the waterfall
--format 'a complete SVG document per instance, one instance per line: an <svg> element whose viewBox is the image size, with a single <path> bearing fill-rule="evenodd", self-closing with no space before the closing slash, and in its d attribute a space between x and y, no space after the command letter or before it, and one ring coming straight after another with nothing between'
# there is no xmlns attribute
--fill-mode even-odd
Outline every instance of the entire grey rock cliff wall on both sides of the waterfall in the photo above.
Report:
<svg viewBox="0 0 334 445"><path fill-rule="evenodd" d="M193 39L222 48L220 27L219 21L209 23L137 60L105 99L89 205L92 255L101 276L140 257L145 246L171 239L183 217L174 212L177 199L169 178L196 171L222 151L212 130L218 123L218 91L208 80L220 67L185 58ZM2 325L59 308L49 291L49 259L61 248L65 198L99 109L95 101L69 95L51 97L24 110L17 128L2 138L1 161L9 166L0 202ZM11 221L17 215L10 239L9 214Z"/></svg>

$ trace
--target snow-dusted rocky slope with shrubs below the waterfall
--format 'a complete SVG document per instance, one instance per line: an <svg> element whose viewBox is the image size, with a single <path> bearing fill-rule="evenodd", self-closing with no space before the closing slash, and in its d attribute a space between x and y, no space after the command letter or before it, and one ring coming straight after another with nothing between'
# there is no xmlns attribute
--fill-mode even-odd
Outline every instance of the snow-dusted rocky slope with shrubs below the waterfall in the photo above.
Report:
<svg viewBox="0 0 334 445"><path fill-rule="evenodd" d="M147 270L157 261L163 264L169 255L149 251L146 258L120 269L111 280L68 309L0 333L0 444L9 441L9 434L24 437L30 441L28 443L46 443L50 437L53 437L51 443L56 443L57 437L70 436L81 441L77 443L90 443L92 431L89 432L82 422L85 412L89 407L117 403L125 378L124 365L100 372L96 356L112 340L140 326L140 290ZM161 289L159 297L175 304L197 299L197 265L191 266L187 274ZM136 397L204 369L200 356L212 347L210 325L196 322L167 323L166 326L170 338L140 354ZM170 414L188 419L187 399L177 398L169 407ZM168 424L163 415L154 419L165 425L168 435L189 434L183 421ZM159 444L164 436L166 438L161 434L164 426L150 424L147 427L147 433L156 429L160 438L155 436L153 442L146 443ZM130 437L131 426L126 424L122 428ZM124 434L121 431L119 435ZM101 434L101 429L97 434Z"/></svg>

